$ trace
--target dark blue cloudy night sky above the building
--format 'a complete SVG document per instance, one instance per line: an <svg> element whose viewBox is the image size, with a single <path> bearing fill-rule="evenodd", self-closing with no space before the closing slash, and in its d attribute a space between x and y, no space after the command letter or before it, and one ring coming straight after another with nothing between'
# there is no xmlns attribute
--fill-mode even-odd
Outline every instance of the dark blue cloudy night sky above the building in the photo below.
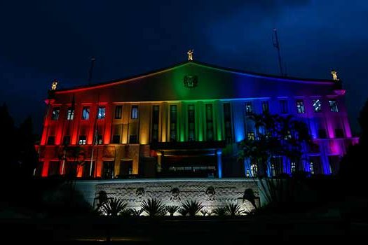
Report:
<svg viewBox="0 0 368 245"><path fill-rule="evenodd" d="M278 75L273 28L287 74L331 78L346 88L354 132L368 98L368 1L0 1L0 102L36 132L50 83L86 85L194 59Z"/></svg>

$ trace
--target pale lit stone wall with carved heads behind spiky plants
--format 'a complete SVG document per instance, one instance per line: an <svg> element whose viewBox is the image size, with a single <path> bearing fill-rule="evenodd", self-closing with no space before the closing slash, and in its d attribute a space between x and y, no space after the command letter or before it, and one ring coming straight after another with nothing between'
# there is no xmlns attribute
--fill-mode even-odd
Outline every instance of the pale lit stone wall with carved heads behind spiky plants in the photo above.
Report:
<svg viewBox="0 0 368 245"><path fill-rule="evenodd" d="M97 206L100 192L107 197L121 197L128 204L128 208L140 209L143 200L158 199L165 205L181 206L186 200L202 202L207 211L216 207L223 207L228 203L242 205L245 210L254 209L249 200L245 200L245 190L250 189L259 197L257 181L245 179L134 179L111 181L88 181L78 183L79 189L89 197L86 199L91 205ZM84 191L82 190L84 189ZM259 205L259 202L257 203Z"/></svg>

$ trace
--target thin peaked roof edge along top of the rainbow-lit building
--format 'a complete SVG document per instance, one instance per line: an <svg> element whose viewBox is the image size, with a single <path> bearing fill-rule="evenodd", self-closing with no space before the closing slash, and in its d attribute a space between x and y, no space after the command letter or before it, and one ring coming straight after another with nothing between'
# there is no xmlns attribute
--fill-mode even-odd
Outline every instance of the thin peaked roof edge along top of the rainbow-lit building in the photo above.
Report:
<svg viewBox="0 0 368 245"><path fill-rule="evenodd" d="M140 75L137 76L129 76L127 78L121 78L121 79L114 79L114 80L109 80L107 82L103 82L103 83L95 83L93 85L81 85L81 86L76 86L76 87L71 87L71 88L66 88L66 89L62 89L62 90L56 90L55 93L56 94L64 94L67 92L79 92L79 91L83 91L83 90L93 90L95 88L101 88L101 87L108 87L111 85L118 85L121 83L128 83L132 80L137 80L139 78L144 78L147 76L155 76L158 73L163 73L165 71L170 71L172 69L176 69L179 68L180 66L184 66L186 64L198 64L200 66L205 66L207 68L210 69L216 69L219 71L226 71L226 72L230 72L230 73L237 73L240 75L245 75L245 76L253 76L253 77L257 77L257 78L271 78L271 79L276 79L276 80L285 80L285 81L289 81L289 82L301 82L301 83L336 83L336 81L334 80L329 80L329 79L315 79L315 78L296 78L296 77L285 77L285 76L275 76L275 75L270 75L270 74L264 74L264 73L256 73L256 72L252 72L252 71L243 71L240 69L232 69L232 68L226 68L226 67L222 67L222 66L217 66L214 64L207 64L205 62L198 62L198 61L186 61L186 62L180 62L177 64L174 64L172 66L168 66L166 68L161 68L161 69L156 69L154 71L149 71L146 73L142 73Z"/></svg>

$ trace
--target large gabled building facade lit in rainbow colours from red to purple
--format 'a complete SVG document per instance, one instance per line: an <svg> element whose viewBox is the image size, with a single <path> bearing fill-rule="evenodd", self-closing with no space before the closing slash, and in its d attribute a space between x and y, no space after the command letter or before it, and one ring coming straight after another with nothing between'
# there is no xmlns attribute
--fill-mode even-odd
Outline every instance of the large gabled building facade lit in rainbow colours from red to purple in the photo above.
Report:
<svg viewBox="0 0 368 245"><path fill-rule="evenodd" d="M335 174L357 139L345 90L333 75L268 76L189 60L108 83L54 86L46 99L35 175L251 177L257 174L252 165L237 160L238 142L257 137L247 116L264 111L303 120L318 144L306 153L307 163L285 160L282 172Z"/></svg>

